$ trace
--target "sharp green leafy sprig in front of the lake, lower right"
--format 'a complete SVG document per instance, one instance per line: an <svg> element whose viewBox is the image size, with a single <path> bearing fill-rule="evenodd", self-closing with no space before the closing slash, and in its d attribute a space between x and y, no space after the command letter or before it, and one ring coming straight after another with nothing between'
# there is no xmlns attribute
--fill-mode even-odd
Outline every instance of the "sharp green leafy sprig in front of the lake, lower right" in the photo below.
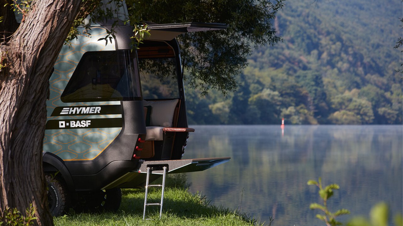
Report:
<svg viewBox="0 0 403 226"><path fill-rule="evenodd" d="M312 210L318 209L318 210L322 210L325 214L316 214L316 218L323 220L327 226L336 226L336 225L342 225L341 222L338 222L336 220L337 216L340 215L345 215L345 214L350 214L350 211L346 210L346 209L341 209L341 210L337 210L334 213L331 213L328 208L327 208L327 200L332 197L333 195L333 190L334 189L339 189L340 186L337 184L330 184L327 185L325 188L322 187L322 179L319 177L318 181L314 181L314 180L309 180L308 185L316 185L319 187L319 195L320 197L323 199L323 205L320 205L318 203L311 203L311 205L309 206Z"/></svg>

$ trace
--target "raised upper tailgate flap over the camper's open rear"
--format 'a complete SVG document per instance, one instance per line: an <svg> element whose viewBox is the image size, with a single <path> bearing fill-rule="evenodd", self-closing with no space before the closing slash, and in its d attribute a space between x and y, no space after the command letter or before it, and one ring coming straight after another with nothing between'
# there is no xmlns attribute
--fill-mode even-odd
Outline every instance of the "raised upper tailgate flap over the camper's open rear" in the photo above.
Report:
<svg viewBox="0 0 403 226"><path fill-rule="evenodd" d="M228 26L222 23L178 23L178 24L152 24L148 25L150 37L146 39L170 41L178 35L195 31L212 31L226 29Z"/></svg>

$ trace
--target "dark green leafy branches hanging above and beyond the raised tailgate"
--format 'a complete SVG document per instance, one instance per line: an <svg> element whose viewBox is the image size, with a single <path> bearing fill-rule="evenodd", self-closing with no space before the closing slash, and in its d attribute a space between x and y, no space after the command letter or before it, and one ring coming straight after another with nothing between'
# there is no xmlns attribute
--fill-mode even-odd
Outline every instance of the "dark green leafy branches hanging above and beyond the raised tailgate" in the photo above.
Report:
<svg viewBox="0 0 403 226"><path fill-rule="evenodd" d="M276 43L272 21L282 0L127 0L131 21L226 23L226 30L187 33L178 37L187 70L185 79L202 94L237 88L234 76L246 66L251 46Z"/></svg>

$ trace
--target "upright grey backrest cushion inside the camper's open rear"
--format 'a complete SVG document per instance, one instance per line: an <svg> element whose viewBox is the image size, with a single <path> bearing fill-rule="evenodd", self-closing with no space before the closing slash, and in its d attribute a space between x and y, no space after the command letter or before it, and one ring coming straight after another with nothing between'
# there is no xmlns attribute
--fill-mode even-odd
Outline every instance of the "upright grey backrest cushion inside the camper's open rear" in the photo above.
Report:
<svg viewBox="0 0 403 226"><path fill-rule="evenodd" d="M143 100L143 106L150 105L152 107L150 125L172 127L172 119L177 103L178 99L164 101Z"/></svg>

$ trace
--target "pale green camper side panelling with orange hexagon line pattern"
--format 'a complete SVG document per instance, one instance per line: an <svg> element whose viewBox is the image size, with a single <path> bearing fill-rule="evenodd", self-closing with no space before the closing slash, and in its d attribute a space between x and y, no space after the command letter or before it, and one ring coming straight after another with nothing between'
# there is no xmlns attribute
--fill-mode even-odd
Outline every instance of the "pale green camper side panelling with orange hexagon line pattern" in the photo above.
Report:
<svg viewBox="0 0 403 226"><path fill-rule="evenodd" d="M105 37L106 29L92 27L91 36L83 28L79 28L77 39L71 45L64 45L59 53L54 72L49 79L50 97L46 102L48 110L47 120L53 119L83 119L87 116L50 116L56 107L74 105L118 105L119 101L90 102L90 103L63 103L60 100L64 88L69 82L78 62L87 51L115 50L115 43L98 41ZM121 115L92 115L91 118L122 117ZM47 129L45 130L44 152L52 152L65 161L91 160L104 151L118 136L122 128L100 129Z"/></svg>

